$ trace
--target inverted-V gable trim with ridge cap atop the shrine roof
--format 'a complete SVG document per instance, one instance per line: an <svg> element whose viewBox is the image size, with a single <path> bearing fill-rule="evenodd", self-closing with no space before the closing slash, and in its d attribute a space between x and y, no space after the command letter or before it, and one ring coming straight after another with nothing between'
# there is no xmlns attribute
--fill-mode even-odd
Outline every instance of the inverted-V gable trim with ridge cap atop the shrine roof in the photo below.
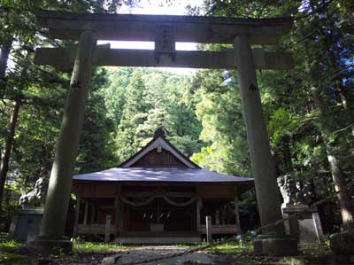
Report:
<svg viewBox="0 0 354 265"><path fill-rule="evenodd" d="M199 168L196 163L189 160L181 151L173 146L166 138L165 133L162 129L157 129L155 132L154 138L146 144L139 152L136 152L135 155L124 161L119 165L119 168L131 168L134 167L134 164L142 160L142 158L147 155L149 152L156 150L157 152L161 152L165 150L170 152L176 160L181 161L183 165L187 168Z"/></svg>

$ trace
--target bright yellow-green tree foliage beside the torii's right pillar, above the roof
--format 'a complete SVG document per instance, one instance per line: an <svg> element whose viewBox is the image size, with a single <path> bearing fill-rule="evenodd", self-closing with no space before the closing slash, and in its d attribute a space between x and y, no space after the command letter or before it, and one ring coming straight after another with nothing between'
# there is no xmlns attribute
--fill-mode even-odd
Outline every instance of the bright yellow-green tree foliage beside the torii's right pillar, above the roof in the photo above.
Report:
<svg viewBox="0 0 354 265"><path fill-rule="evenodd" d="M201 139L209 146L192 160L203 168L234 175L250 175L241 98L235 72L199 71L195 78L196 115L203 124Z"/></svg>

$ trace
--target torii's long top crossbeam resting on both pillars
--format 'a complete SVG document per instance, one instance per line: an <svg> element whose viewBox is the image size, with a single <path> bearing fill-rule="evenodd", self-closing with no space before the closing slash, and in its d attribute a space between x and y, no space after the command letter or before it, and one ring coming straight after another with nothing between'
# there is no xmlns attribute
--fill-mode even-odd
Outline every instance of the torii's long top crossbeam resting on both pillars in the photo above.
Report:
<svg viewBox="0 0 354 265"><path fill-rule="evenodd" d="M230 19L198 16L93 14L42 11L38 23L58 39L79 39L84 30L100 40L154 42L169 34L174 42L233 43L247 35L251 44L277 43L292 27L292 19Z"/></svg>

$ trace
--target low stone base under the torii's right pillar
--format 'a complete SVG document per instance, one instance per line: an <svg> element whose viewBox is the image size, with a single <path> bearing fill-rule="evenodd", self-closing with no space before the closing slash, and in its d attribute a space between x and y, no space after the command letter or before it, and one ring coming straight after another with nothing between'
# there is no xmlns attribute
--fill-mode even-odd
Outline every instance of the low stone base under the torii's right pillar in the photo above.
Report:
<svg viewBox="0 0 354 265"><path fill-rule="evenodd" d="M253 250L256 255L292 256L297 252L297 239L283 236L258 236L253 240Z"/></svg>

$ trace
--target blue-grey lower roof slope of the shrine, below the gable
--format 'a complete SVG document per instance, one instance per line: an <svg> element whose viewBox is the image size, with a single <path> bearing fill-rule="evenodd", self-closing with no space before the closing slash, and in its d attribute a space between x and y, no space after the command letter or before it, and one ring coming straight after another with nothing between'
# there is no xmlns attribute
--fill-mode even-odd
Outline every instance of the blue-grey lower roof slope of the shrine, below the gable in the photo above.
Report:
<svg viewBox="0 0 354 265"><path fill-rule="evenodd" d="M203 168L110 168L74 175L74 181L168 182L168 183L253 183L253 178L219 174Z"/></svg>

